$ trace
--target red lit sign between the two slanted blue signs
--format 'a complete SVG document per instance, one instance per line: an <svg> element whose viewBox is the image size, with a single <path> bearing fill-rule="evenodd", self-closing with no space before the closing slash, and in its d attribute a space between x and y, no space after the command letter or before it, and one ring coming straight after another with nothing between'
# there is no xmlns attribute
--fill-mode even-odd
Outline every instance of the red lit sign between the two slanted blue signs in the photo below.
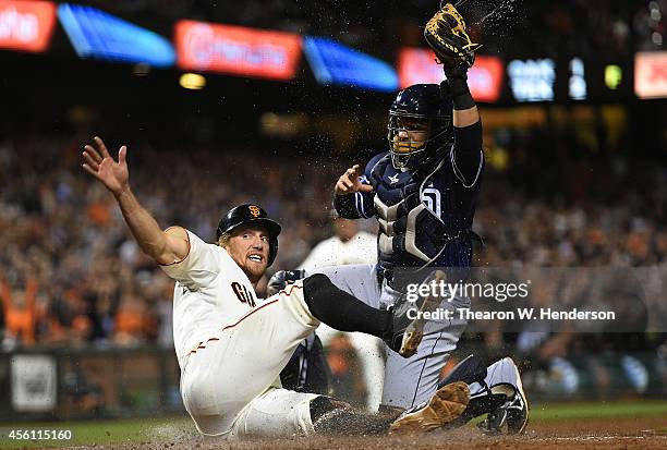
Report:
<svg viewBox="0 0 667 450"><path fill-rule="evenodd" d="M301 36L290 33L179 21L174 40L184 70L291 80L301 59Z"/></svg>

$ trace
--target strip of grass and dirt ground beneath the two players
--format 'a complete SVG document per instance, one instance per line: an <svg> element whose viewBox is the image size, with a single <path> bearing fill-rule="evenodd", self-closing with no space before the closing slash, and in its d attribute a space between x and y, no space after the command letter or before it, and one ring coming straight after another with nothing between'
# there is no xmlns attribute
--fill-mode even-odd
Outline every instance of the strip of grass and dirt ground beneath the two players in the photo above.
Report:
<svg viewBox="0 0 667 450"><path fill-rule="evenodd" d="M623 416L609 416L619 414ZM72 429L71 442L0 441L0 448L196 449L196 450L553 450L667 449L667 404L587 403L548 405L533 410L534 419L522 436L484 436L474 426L420 436L308 437L227 442L205 439L190 417L156 417L60 423ZM575 418L572 414L579 414ZM585 414L585 415L584 415ZM597 416L595 418L592 418ZM44 424L43 424L44 425ZM43 425L33 424L32 428ZM50 425L52 426L52 424ZM24 425L24 428L31 426ZM0 429L2 427L0 426Z"/></svg>

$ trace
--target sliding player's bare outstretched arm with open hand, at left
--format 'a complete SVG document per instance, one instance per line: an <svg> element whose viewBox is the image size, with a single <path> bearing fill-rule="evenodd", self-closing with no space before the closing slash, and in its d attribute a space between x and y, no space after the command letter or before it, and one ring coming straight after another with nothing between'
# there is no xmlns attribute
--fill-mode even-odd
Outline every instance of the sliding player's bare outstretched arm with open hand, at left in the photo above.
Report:
<svg viewBox="0 0 667 450"><path fill-rule="evenodd" d="M100 137L95 136L94 141L95 146L84 147L83 168L113 194L142 251L162 265L184 259L190 251L185 231L183 229L162 231L132 193L126 160L128 147L123 145L119 149L116 161Z"/></svg>

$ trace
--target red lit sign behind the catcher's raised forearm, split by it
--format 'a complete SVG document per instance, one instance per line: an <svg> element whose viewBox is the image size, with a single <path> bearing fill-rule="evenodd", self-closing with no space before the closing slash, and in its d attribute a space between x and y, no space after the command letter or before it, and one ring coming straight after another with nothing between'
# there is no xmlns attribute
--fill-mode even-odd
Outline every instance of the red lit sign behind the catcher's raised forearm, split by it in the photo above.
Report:
<svg viewBox="0 0 667 450"><path fill-rule="evenodd" d="M430 49L404 48L398 58L401 88L419 83L440 83L442 65ZM502 61L497 57L480 56L468 71L468 85L476 101L495 102L502 88Z"/></svg>

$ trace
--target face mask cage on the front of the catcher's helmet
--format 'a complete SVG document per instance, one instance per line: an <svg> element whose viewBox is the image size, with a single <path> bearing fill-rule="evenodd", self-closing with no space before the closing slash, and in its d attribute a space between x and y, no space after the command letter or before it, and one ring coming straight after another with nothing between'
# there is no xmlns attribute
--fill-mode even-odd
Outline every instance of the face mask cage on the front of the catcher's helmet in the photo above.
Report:
<svg viewBox="0 0 667 450"><path fill-rule="evenodd" d="M442 135L447 127L434 119L389 115L388 136L391 165L407 171L420 166L426 157L429 144Z"/></svg>

